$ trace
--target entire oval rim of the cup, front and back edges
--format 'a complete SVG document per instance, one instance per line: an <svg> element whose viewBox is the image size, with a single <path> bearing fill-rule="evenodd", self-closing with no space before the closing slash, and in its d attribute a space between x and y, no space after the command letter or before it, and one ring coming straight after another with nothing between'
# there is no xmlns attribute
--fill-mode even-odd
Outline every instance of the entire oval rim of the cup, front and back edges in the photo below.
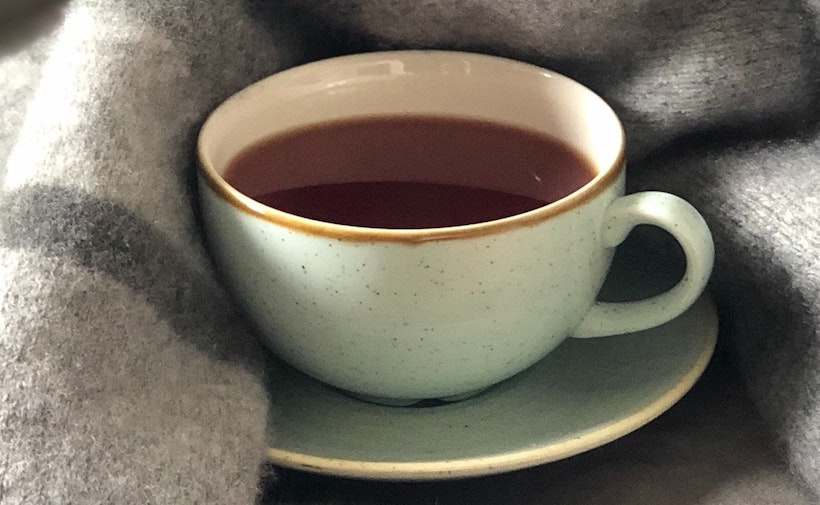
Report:
<svg viewBox="0 0 820 505"><path fill-rule="evenodd" d="M269 207L265 204L257 202L253 198L245 195L244 193L240 192L239 190L235 189L231 186L216 170L213 166L210 158L206 155L206 146L205 146L205 135L207 130L213 122L215 122L215 116L217 113L222 110L224 107L231 106L231 102L239 95L243 95L249 91L256 90L262 88L266 85L269 85L270 80L277 79L279 76L283 74L290 74L294 72L300 72L310 69L316 69L317 67L327 65L328 63L339 64L339 63L348 63L348 64L356 64L361 60L371 59L371 58L378 58L378 57L412 57L413 55L425 55L425 56L439 56L439 57L469 57L469 58L479 58L485 59L487 61L495 60L495 63L503 64L503 65L512 65L518 68L518 70L525 71L528 73L537 73L537 74L544 74L547 72L551 77L560 77L567 79L574 83L576 86L580 86L581 88L586 89L593 95L597 96L601 102L607 107L609 104L606 103L599 95L595 92L589 90L583 84L575 81L574 79L570 79L558 72L554 72L552 70L547 70L542 67L532 65L529 63L525 63L518 60L513 60L509 58L503 58L498 56L490 56L480 53L470 53L464 51L441 51L441 50L398 50L398 51L378 51L378 52L370 52L370 53L361 53L361 54L353 54L353 55L346 55L346 56L338 56L334 58L328 58L323 60L314 61L311 63L306 63L304 65L299 65L296 67L292 67L281 72L274 73L264 79L254 82L249 86L245 87L244 89L240 90L239 92L235 93L227 100L222 102L219 106L217 106L213 111L210 112L207 119L203 123L202 127L200 128L198 139L197 139L197 158L198 158L198 172L201 177L201 180L204 181L207 186L221 199L225 200L227 203L231 204L236 209L243 211L247 214L255 216L257 218L263 219L265 221L278 224L284 226L286 228L290 228L293 230L297 230L300 232L308 233L311 235L318 235L321 237L332 238L337 240L343 241L357 241L357 242L402 242L402 243L424 243L424 242L431 242L431 241L441 241L441 240L454 240L454 239L463 239L463 238L471 238L483 235L490 235L493 233L499 233L510 229L515 228L524 228L533 226L537 223L546 221L550 218L556 217L558 215L565 214L580 205L588 202L595 196L602 193L605 189L610 187L621 175L621 173L625 169L625 133L623 129L623 124L621 123L620 119L617 117L614 111L612 111L613 116L616 119L616 123L620 130L620 146L618 148L618 153L615 156L613 162L608 167L604 167L600 170L597 175L589 181L587 184L582 186L581 188L573 191L569 195L564 196L554 202L548 203L544 206L538 207L536 209L523 212L520 214L515 214L512 216L504 217L501 219L495 219L492 221L484 221L479 223L471 223L465 225L458 225L458 226L448 226L448 227L440 227L440 228L414 228L414 229L399 229L399 228L368 228L362 226L352 226L352 225L345 225L345 224L338 224L338 223L331 223L326 221L318 221L315 219L310 219L307 217L302 217L296 214L291 214L288 212L284 212L278 210L273 207ZM611 110L611 108L610 108ZM364 117L364 115L363 115Z"/></svg>

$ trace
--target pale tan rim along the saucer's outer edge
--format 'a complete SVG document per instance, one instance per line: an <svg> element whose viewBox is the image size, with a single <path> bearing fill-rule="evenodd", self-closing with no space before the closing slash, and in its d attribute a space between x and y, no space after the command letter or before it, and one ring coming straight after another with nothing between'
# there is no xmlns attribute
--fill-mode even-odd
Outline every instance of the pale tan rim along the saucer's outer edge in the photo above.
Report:
<svg viewBox="0 0 820 505"><path fill-rule="evenodd" d="M579 436L525 450L451 460L354 460L303 454L274 447L267 448L267 459L283 467L338 477L417 481L493 475L558 461L600 447L632 433L669 410L692 389L703 374L717 343L718 316L711 296L704 294L701 298L704 305L702 317L704 320L709 319L708 335L704 335L703 349L693 360L686 374L673 387L640 410L590 429Z"/></svg>

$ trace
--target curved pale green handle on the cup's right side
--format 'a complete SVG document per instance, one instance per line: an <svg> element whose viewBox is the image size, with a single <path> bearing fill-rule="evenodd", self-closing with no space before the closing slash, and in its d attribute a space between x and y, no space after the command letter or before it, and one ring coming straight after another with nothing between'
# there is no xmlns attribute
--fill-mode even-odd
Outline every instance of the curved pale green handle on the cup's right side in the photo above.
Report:
<svg viewBox="0 0 820 505"><path fill-rule="evenodd" d="M601 242L615 247L639 224L668 231L686 255L686 271L672 289L635 302L595 302L573 337L591 338L641 331L670 321L700 296L712 273L715 246L703 217L688 202L669 193L647 191L616 199L606 210Z"/></svg>

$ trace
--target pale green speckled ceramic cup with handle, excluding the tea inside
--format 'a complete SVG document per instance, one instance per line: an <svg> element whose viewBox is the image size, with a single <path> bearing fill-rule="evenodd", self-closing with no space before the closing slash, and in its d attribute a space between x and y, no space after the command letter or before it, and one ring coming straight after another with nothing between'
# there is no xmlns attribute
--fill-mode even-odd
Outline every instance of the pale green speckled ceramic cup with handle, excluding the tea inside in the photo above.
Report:
<svg viewBox="0 0 820 505"><path fill-rule="evenodd" d="M221 177L233 156L271 134L381 114L536 129L582 151L597 176L531 212L424 230L301 218L251 200ZM203 216L227 282L284 360L369 398L458 398L528 368L567 337L662 324L703 290L713 259L703 219L672 195L622 196L623 150L612 110L553 72L457 52L348 56L268 77L211 114L199 138ZM287 184L362 180L350 167L328 173L297 170ZM435 177L428 182L459 182L453 174ZM504 180L487 189L504 190ZM283 189L275 175L272 181ZM637 224L660 226L680 242L683 279L640 302L596 302L613 248Z"/></svg>

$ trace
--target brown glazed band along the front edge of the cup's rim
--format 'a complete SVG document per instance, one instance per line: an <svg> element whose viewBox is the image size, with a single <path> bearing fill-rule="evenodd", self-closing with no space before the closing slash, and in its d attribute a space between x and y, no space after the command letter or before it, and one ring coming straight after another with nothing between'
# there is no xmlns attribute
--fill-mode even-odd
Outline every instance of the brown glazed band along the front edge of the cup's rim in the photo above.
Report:
<svg viewBox="0 0 820 505"><path fill-rule="evenodd" d="M526 63L517 62L515 60L507 61L527 65ZM578 83L578 85L583 86L580 83ZM603 99L601 100L603 102ZM606 102L603 103L606 104ZM618 179L626 166L626 136L624 134L623 125L620 121L618 121L618 126L620 127L621 145L612 164L604 170L598 172L598 175L596 175L595 178L585 186L553 203L529 212L524 212L522 214L516 214L514 216L497 219L494 221L461 226L421 229L365 228L360 226L327 223L324 221L317 221L283 212L259 203L249 196L246 196L234 189L219 175L213 165L209 162L208 157L205 155L202 131L210 119L211 117L205 121L205 125L203 125L202 130L200 130L200 136L197 142L197 156L199 158L199 174L208 187L217 196L233 205L238 210L260 219L264 219L270 223L302 233L351 242L399 242L413 244L441 240L466 239L490 235L493 233L500 233L516 228L533 226L549 218L571 211L572 209L579 207L593 197L599 195Z"/></svg>

